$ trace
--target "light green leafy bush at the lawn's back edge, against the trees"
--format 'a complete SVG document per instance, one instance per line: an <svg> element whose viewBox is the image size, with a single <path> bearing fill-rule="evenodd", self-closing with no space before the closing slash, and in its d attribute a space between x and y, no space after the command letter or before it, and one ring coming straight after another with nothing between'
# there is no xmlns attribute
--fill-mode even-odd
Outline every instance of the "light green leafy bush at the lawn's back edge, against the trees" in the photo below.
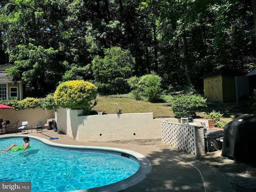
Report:
<svg viewBox="0 0 256 192"><path fill-rule="evenodd" d="M133 89L134 98L137 100L156 102L161 98L161 78L155 73L140 78L132 77L128 80L128 83Z"/></svg>

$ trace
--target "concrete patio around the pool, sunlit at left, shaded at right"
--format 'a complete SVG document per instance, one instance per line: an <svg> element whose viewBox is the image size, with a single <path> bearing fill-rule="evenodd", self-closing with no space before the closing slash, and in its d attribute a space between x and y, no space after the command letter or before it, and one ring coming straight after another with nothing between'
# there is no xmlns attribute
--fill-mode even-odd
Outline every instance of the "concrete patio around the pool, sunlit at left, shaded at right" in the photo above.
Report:
<svg viewBox="0 0 256 192"><path fill-rule="evenodd" d="M12 136L14 134L2 134ZM21 135L18 133L18 135ZM210 152L196 157L172 146L163 144L161 139L115 140L108 142L78 142L62 132L44 130L42 134L32 133L24 136L38 136L53 143L104 146L133 150L143 154L152 164L151 173L140 183L123 192L255 192L256 168L234 162L221 156L221 152ZM21 141L22 142L22 141Z"/></svg>

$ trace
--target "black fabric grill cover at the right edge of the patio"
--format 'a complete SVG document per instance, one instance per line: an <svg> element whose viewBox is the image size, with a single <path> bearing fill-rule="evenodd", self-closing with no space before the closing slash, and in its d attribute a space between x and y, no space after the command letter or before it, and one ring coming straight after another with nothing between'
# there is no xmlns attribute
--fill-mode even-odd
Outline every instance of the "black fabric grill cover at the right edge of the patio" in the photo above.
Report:
<svg viewBox="0 0 256 192"><path fill-rule="evenodd" d="M255 163L256 115L242 115L224 126L222 156Z"/></svg>

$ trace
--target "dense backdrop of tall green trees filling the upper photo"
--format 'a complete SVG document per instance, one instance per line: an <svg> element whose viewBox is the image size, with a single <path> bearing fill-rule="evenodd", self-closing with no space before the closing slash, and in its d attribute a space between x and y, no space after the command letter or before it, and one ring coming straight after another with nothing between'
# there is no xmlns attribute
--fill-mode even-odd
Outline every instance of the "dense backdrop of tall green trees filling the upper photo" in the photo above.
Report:
<svg viewBox="0 0 256 192"><path fill-rule="evenodd" d="M198 88L200 77L222 66L256 67L254 10L253 0L2 0L0 65L14 64L8 78L23 80L27 96L43 97L59 82L100 81L92 60L113 64L118 56L105 58L105 50L119 47L134 58L118 61L128 76L154 71L164 84L176 78ZM95 83L121 93L124 78Z"/></svg>

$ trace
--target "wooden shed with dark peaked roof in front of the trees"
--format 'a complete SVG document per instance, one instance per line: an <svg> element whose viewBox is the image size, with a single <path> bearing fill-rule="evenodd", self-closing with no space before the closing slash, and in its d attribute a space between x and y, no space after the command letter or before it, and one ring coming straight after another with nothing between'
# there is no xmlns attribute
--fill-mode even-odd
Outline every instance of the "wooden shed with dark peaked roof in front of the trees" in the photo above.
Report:
<svg viewBox="0 0 256 192"><path fill-rule="evenodd" d="M241 75L239 71L220 68L203 76L204 96L210 102L236 102L235 76Z"/></svg>

